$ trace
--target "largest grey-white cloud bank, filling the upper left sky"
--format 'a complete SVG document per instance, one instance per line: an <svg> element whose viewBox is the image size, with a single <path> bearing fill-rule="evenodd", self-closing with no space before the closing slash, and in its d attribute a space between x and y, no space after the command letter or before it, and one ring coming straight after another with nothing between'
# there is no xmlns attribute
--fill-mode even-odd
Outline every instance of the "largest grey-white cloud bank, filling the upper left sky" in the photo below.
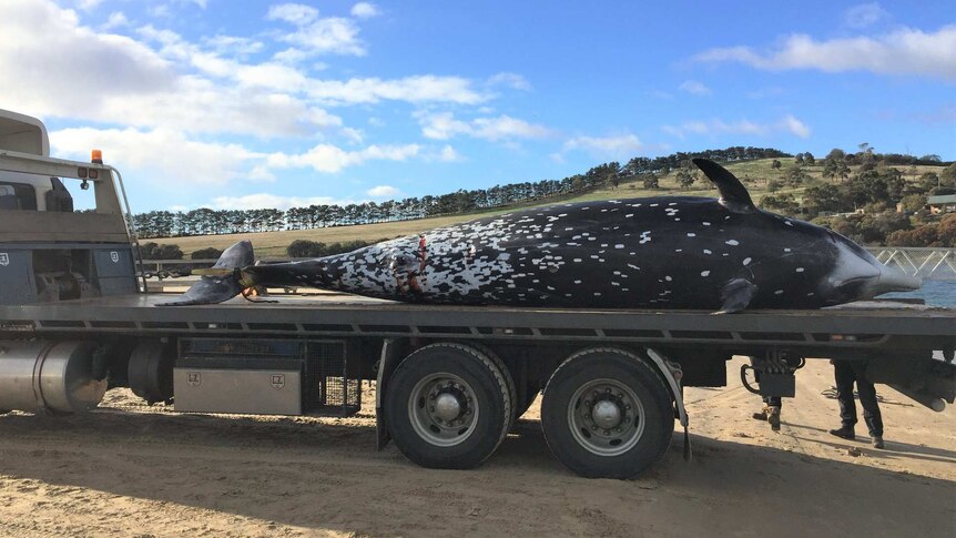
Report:
<svg viewBox="0 0 956 538"><path fill-rule="evenodd" d="M291 13L283 17L295 19ZM295 20L308 17L306 10ZM260 51L255 39L216 35L194 43L152 26L138 29L133 39L85 27L74 11L43 0L0 2L0 72L18 73L0 77L3 105L45 119L301 136L344 126L329 105L474 104L491 98L459 77L314 79L278 61L230 58ZM109 77L102 75L103 65Z"/></svg>

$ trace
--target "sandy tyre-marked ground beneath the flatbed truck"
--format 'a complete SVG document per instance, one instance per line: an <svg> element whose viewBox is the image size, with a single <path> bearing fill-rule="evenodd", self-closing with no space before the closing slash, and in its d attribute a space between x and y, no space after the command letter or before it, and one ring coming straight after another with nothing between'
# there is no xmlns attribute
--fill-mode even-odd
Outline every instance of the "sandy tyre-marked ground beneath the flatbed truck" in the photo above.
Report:
<svg viewBox="0 0 956 538"><path fill-rule="evenodd" d="M887 449L872 449L862 424L862 440L837 439L825 432L837 425L832 370L812 361L772 433L749 418L760 400L736 364L728 388L688 390L693 463L678 432L634 481L571 475L535 407L471 471L376 451L370 409L177 415L113 390L85 416L0 416L0 536L956 535L953 409L883 388Z"/></svg>

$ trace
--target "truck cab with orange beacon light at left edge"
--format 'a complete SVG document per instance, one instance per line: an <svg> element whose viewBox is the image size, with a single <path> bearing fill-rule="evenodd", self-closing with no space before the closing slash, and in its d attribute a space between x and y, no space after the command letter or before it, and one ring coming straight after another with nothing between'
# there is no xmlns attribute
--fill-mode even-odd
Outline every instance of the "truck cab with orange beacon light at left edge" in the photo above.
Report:
<svg viewBox="0 0 956 538"><path fill-rule="evenodd" d="M49 155L43 122L0 110L0 305L136 292L112 170ZM77 211L64 180L92 185L95 207Z"/></svg>

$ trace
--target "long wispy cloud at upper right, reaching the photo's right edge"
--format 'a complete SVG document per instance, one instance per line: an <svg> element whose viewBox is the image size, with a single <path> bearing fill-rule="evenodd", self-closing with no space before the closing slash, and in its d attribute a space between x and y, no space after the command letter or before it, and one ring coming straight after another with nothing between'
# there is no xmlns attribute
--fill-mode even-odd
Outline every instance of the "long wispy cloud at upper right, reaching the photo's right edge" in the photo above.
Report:
<svg viewBox="0 0 956 538"><path fill-rule="evenodd" d="M904 28L876 38L815 40L810 35L794 34L783 40L777 50L767 53L756 52L750 47L730 47L710 49L694 59L740 62L769 71L871 71L952 80L956 79L956 26L946 26L935 32Z"/></svg>

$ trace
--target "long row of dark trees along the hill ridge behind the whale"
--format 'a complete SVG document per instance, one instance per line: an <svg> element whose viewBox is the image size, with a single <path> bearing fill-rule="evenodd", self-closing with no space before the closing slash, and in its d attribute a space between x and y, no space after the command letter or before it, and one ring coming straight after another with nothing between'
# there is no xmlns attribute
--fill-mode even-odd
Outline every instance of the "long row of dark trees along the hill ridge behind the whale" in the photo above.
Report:
<svg viewBox="0 0 956 538"><path fill-rule="evenodd" d="M335 205L314 204L304 207L257 210L151 211L133 216L140 237L173 237L184 235L214 235L283 230L312 230L350 224L374 224L430 216L471 213L495 207L535 202L542 199L580 193L604 185L617 186L634 176L650 176L657 186L657 175L672 170L688 169L691 159L706 158L721 162L755 159L790 158L772 148L734 146L725 150L678 152L667 156L633 158L624 164L608 162L591 168L583 174L561 180L508 183L488 189L461 190L420 197L406 197L386 202ZM690 183L693 179L689 175ZM649 179L644 179L650 181Z"/></svg>

